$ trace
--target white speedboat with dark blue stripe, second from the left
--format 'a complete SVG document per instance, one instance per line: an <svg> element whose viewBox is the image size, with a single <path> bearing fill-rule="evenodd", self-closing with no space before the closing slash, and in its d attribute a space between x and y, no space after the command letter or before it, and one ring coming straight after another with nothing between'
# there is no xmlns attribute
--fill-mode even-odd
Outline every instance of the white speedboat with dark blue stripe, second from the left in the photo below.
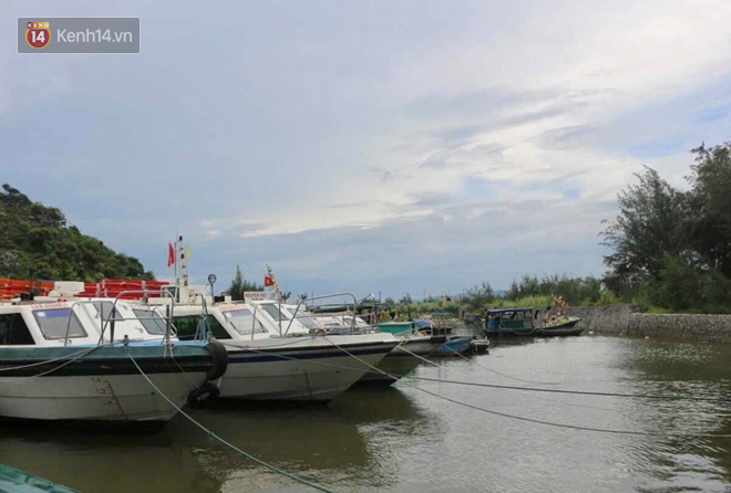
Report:
<svg viewBox="0 0 731 493"><path fill-rule="evenodd" d="M205 325L228 352L220 397L329 401L372 371L399 343L392 334L328 334L309 329L272 301L177 305L178 337ZM202 324L202 321L206 324Z"/></svg>

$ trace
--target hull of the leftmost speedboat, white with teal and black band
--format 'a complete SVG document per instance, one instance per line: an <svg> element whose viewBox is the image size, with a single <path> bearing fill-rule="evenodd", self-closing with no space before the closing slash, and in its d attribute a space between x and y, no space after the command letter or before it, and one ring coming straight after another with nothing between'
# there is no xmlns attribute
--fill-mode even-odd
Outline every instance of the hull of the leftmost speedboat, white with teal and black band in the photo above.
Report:
<svg viewBox="0 0 731 493"><path fill-rule="evenodd" d="M0 352L2 418L164 422L176 410L140 374L130 355L178 407L212 369L212 354L203 345L89 347L82 357L81 346L32 349ZM55 360L41 364L50 359Z"/></svg>

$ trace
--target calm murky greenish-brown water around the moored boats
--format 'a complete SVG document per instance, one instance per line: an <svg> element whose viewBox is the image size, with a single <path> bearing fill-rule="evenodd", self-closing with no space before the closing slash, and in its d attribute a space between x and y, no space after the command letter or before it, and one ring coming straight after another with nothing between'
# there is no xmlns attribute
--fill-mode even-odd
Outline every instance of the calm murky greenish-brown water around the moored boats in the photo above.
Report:
<svg viewBox="0 0 731 493"><path fill-rule="evenodd" d="M731 398L731 346L581 336L495 345L488 355L437 365L422 365L415 375ZM461 407L420 388L484 409L562 423L731 433L728 403L414 380L352 389L329 406L226 406L192 413L245 450L336 491L731 492L731 439L552 428ZM0 424L0 463L84 492L310 491L214 443L181 417L154 433Z"/></svg>

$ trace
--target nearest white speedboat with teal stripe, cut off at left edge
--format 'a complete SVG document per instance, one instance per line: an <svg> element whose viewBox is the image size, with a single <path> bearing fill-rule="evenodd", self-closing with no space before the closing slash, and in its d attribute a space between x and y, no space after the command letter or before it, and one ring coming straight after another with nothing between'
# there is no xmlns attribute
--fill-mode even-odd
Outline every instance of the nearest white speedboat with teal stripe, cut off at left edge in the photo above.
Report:
<svg viewBox="0 0 731 493"><path fill-rule="evenodd" d="M176 340L144 305L70 298L79 284L0 303L0 417L164 422L176 410L146 378L182 407L225 371L220 345Z"/></svg>

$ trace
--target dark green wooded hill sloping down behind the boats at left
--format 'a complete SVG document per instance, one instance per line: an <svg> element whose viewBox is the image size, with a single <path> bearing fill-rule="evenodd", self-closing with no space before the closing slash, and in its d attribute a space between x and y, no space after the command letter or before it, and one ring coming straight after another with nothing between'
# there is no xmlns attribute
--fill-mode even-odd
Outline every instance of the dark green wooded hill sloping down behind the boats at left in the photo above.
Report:
<svg viewBox="0 0 731 493"><path fill-rule="evenodd" d="M153 280L142 263L82 234L59 209L32 202L9 185L0 191L0 277Z"/></svg>

